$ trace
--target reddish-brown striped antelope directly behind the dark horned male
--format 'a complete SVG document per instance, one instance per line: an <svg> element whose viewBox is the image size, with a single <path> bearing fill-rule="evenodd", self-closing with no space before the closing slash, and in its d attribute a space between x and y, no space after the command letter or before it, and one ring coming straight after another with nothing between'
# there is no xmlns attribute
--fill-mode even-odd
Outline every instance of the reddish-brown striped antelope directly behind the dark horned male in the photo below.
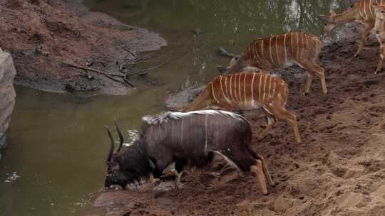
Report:
<svg viewBox="0 0 385 216"><path fill-rule="evenodd" d="M252 110L262 107L262 111L267 116L267 126L262 132L262 139L272 129L277 119L282 119L292 126L295 139L300 144L297 117L285 108L288 95L289 87L278 77L259 72L239 72L215 77L205 90L182 111L190 112L207 107L227 111Z"/></svg>

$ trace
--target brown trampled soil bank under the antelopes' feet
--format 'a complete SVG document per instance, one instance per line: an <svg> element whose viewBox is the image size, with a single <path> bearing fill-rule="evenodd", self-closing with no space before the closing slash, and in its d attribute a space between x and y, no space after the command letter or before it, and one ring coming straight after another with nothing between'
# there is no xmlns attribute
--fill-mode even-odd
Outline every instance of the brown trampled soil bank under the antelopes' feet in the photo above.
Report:
<svg viewBox="0 0 385 216"><path fill-rule="evenodd" d="M326 96L318 79L303 96L304 71L284 70L287 108L297 113L303 144L296 144L282 121L260 141L264 117L245 114L252 124L252 148L267 158L277 183L268 188L270 195L262 195L255 177L242 177L219 159L183 175L180 190L171 188L172 180L162 180L148 193L135 188L103 193L94 205L104 207L106 215L130 216L385 215L385 76L374 75L379 45L373 37L361 56L353 57L358 39L356 34L324 48Z"/></svg>

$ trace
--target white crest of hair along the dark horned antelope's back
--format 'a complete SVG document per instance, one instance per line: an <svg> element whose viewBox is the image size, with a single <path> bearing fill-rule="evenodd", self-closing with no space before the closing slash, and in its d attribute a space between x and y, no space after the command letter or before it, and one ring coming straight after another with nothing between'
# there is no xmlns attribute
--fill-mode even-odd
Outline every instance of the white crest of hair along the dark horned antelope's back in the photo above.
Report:
<svg viewBox="0 0 385 216"><path fill-rule="evenodd" d="M199 111L193 111L193 112L163 112L157 116L150 116L150 115L144 116L142 120L145 121L147 124L155 125L155 124L163 124L165 122L168 122L169 120L182 119L183 117L188 117L191 114L225 115L228 117L245 121L245 119L239 114L235 114L233 112L227 112L227 111L217 111L217 110L199 110Z"/></svg>

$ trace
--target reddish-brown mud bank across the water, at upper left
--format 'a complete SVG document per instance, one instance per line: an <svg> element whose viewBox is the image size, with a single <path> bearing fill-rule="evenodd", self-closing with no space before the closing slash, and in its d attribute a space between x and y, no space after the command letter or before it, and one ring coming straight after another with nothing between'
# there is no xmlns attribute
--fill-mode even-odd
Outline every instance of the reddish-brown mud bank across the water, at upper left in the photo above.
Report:
<svg viewBox="0 0 385 216"><path fill-rule="evenodd" d="M119 74L121 63L134 59L127 50L156 50L165 45L158 34L124 25L78 0L0 0L0 47L11 51L16 84L40 90L101 90L123 94L129 88L105 75L63 63L90 65Z"/></svg>

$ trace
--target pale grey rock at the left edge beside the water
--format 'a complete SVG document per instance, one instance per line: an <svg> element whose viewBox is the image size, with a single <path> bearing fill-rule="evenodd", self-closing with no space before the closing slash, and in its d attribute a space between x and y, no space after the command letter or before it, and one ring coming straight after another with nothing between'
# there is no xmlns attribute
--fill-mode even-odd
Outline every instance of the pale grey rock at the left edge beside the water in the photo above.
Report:
<svg viewBox="0 0 385 216"><path fill-rule="evenodd" d="M6 130L15 105L16 92L13 85L15 75L11 54L0 49L0 158L1 149L6 147Z"/></svg>

